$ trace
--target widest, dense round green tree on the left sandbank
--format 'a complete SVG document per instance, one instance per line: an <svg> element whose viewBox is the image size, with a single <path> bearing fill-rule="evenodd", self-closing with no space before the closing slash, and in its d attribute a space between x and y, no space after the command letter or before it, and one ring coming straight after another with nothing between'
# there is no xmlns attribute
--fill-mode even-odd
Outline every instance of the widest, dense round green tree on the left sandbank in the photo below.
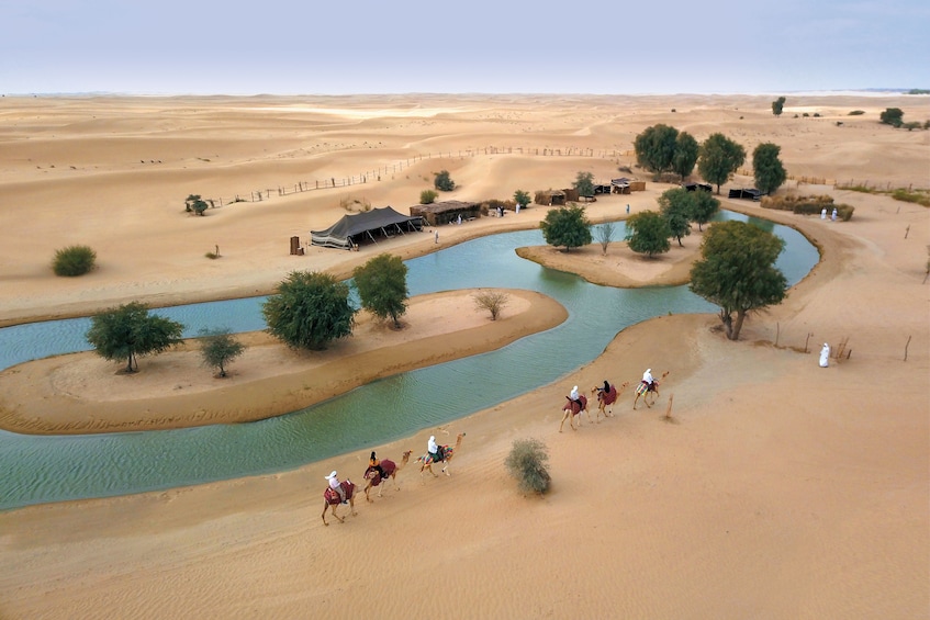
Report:
<svg viewBox="0 0 930 620"><path fill-rule="evenodd" d="M261 307L267 331L296 349L323 350L352 332L349 286L329 273L292 271Z"/></svg>

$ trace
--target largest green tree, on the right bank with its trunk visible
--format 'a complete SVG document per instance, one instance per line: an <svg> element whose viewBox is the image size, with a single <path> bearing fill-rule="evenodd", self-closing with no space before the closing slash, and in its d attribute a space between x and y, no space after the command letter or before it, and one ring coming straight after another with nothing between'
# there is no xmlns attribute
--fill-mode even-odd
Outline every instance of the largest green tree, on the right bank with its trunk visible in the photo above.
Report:
<svg viewBox="0 0 930 620"><path fill-rule="evenodd" d="M718 222L704 236L688 286L720 306L730 340L739 339L749 312L778 304L787 295L787 280L775 267L784 246L772 233L738 221Z"/></svg>

